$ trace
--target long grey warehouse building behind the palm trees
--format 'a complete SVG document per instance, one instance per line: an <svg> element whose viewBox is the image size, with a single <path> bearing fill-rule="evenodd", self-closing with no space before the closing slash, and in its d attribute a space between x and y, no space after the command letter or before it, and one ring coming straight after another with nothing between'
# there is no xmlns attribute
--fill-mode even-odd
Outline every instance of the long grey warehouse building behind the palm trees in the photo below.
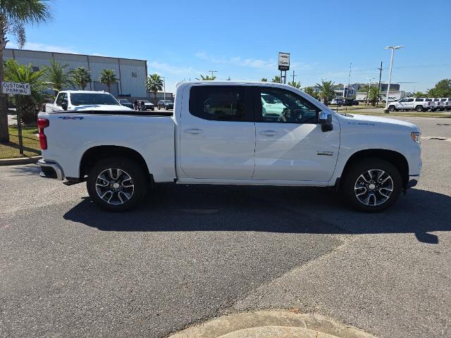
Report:
<svg viewBox="0 0 451 338"><path fill-rule="evenodd" d="M112 69L118 82L111 86L114 96L146 97L147 61L131 58L112 58L109 56L93 56L82 54L56 53L50 51L29 51L24 49L5 49L4 60L15 59L21 65L32 63L34 70L44 65L50 65L51 59L62 64L68 64L66 70L84 67L91 72L92 82L86 90L108 90L106 84L99 82L99 75L103 69ZM63 88L73 89L73 88ZM79 88L77 88L79 89Z"/></svg>

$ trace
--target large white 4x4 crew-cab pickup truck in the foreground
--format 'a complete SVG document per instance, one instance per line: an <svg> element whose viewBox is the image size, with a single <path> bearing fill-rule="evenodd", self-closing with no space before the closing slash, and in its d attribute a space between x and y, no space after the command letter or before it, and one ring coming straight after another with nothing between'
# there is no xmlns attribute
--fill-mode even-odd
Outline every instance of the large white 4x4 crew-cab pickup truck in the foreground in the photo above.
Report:
<svg viewBox="0 0 451 338"><path fill-rule="evenodd" d="M381 211L419 179L411 123L340 115L268 82L183 82L175 98L172 116L39 113L41 175L86 181L109 211L136 206L159 182L334 187L354 208Z"/></svg>

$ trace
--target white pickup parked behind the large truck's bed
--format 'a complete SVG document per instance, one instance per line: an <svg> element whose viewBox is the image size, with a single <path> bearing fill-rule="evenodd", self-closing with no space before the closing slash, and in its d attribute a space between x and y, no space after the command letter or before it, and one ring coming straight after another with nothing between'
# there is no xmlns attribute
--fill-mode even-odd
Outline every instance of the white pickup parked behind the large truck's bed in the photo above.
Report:
<svg viewBox="0 0 451 338"><path fill-rule="evenodd" d="M107 92L63 90L56 95L53 104L46 104L45 111L132 111L122 106Z"/></svg>

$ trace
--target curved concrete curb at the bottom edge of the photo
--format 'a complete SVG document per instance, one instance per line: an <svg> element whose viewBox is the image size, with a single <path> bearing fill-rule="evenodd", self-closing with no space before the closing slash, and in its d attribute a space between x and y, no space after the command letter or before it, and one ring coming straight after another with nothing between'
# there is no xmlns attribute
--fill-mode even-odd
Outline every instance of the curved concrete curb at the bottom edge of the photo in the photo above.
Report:
<svg viewBox="0 0 451 338"><path fill-rule="evenodd" d="M376 338L322 315L257 311L225 315L189 327L170 338Z"/></svg>

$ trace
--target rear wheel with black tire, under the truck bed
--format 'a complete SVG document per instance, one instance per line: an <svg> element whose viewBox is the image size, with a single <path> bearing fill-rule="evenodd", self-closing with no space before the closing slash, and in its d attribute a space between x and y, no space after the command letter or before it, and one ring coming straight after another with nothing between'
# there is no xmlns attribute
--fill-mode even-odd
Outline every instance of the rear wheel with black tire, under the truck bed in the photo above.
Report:
<svg viewBox="0 0 451 338"><path fill-rule="evenodd" d="M110 180L111 176L109 175L109 168L113 170L113 176L116 177L116 180ZM116 169L121 171L115 172L114 170ZM101 175L103 172L106 173ZM97 180L99 175L106 180L103 178ZM130 177L130 180L128 180L127 177ZM101 184L97 184L97 182ZM117 189L113 188L111 184L108 184L112 182L118 184L118 187L116 187ZM104 186L103 184L107 185ZM130 187L130 184L132 184L132 188ZM94 201L97 206L107 211L127 211L134 208L144 198L147 192L147 185L144 170L141 166L135 161L122 157L105 158L94 164L91 170L89 170L86 182L87 192L92 201ZM99 193L97 187L99 188ZM104 195L105 197L102 199L99 194L103 194L106 191L109 192L106 196ZM109 198L110 194L112 198L110 203L108 203L106 199ZM118 201L120 204L113 204L115 201ZM123 201L123 203L121 203L121 201Z"/></svg>

